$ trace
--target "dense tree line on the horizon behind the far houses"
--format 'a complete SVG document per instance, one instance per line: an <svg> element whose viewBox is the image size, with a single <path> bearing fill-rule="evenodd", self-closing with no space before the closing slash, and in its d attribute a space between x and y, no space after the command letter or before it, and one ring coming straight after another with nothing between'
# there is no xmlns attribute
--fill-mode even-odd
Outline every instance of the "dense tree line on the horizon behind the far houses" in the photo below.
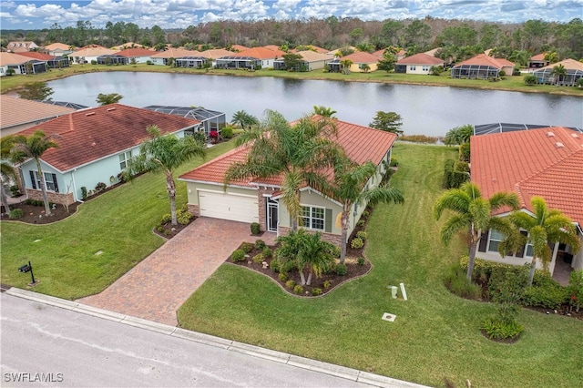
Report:
<svg viewBox="0 0 583 388"><path fill-rule="evenodd" d="M97 28L86 20L78 21L75 26L62 27L55 23L43 30L1 32L2 46L12 40L32 40L41 46L54 42L71 46L117 46L134 42L160 50L167 45L197 49L234 44L285 48L314 45L327 49L356 46L362 51L398 46L409 55L442 47L439 56L452 60L464 59L486 49L494 49L495 56L506 58L517 56L517 52L523 52L518 54L520 57L524 53L556 52L561 59L581 59L583 21L574 18L568 23L527 20L502 24L431 16L384 21L330 16L302 20L222 20L183 30L163 30L159 26L140 28L135 23L126 22L107 22L105 27Z"/></svg>

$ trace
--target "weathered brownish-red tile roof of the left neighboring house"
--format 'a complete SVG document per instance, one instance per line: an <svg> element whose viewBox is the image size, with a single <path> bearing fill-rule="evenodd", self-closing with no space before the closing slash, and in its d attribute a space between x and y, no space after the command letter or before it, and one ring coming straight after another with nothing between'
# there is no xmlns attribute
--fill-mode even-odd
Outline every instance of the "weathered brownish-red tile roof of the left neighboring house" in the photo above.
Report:
<svg viewBox="0 0 583 388"><path fill-rule="evenodd" d="M157 125L166 134L199 122L139 107L111 104L56 117L20 134L31 135L42 130L46 135L56 135L58 148L48 149L42 159L60 171L66 171L138 146L148 138L148 126Z"/></svg>

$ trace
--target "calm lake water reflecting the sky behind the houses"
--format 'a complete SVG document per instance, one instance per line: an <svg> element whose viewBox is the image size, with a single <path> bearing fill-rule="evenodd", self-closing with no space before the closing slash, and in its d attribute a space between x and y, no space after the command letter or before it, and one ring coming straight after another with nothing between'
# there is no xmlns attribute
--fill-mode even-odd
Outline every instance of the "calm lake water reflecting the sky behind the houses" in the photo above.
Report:
<svg viewBox="0 0 583 388"><path fill-rule="evenodd" d="M547 94L380 83L226 77L167 73L89 73L50 81L52 98L89 107L99 93L119 93L133 107L206 107L261 117L265 109L289 120L332 107L344 121L367 126L378 110L403 117L405 134L443 136L465 124L496 122L583 128L583 98Z"/></svg>

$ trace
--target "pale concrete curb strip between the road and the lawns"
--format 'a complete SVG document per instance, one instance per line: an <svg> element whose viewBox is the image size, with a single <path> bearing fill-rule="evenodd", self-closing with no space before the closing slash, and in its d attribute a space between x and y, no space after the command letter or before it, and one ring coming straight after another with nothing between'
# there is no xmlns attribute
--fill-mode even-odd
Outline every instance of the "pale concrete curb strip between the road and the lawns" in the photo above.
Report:
<svg viewBox="0 0 583 388"><path fill-rule="evenodd" d="M272 362L285 363L309 371L330 374L341 377L356 383L366 383L373 386L387 388L428 388L425 385L409 383L403 380L396 380L391 377L381 376L379 374L367 373L357 369L347 368L341 365L334 365L328 362L321 362L305 357L300 357L284 352L272 351L248 343L226 340L202 332L191 332L186 329L170 326L164 323L152 322L130 315L121 314L115 311L107 311L92 307L87 304L78 303L77 301L66 301L53 296L26 291L22 289L10 288L3 293L23 298L28 301L36 301L50 306L58 307L68 311L76 311L92 317L101 318L107 321L119 322L140 329L149 330L150 332L159 332L172 337L181 338L191 342L199 342L205 345L214 346L231 352L239 352L253 357L270 360Z"/></svg>

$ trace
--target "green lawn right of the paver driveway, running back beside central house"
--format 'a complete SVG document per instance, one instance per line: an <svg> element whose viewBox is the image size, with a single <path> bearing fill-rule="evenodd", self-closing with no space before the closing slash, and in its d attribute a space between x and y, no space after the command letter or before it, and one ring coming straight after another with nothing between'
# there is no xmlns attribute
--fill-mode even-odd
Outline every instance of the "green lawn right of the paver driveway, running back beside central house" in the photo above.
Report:
<svg viewBox="0 0 583 388"><path fill-rule="evenodd" d="M179 324L281 352L444 386L578 386L583 381L583 324L521 311L515 344L487 340L478 330L495 306L445 290L445 267L464 251L439 242L431 207L441 193L445 158L454 148L397 144L393 184L406 202L380 205L369 223L366 254L373 271L323 298L290 296L259 274L222 265L179 310ZM409 301L390 298L404 282ZM384 312L397 315L384 322Z"/></svg>

